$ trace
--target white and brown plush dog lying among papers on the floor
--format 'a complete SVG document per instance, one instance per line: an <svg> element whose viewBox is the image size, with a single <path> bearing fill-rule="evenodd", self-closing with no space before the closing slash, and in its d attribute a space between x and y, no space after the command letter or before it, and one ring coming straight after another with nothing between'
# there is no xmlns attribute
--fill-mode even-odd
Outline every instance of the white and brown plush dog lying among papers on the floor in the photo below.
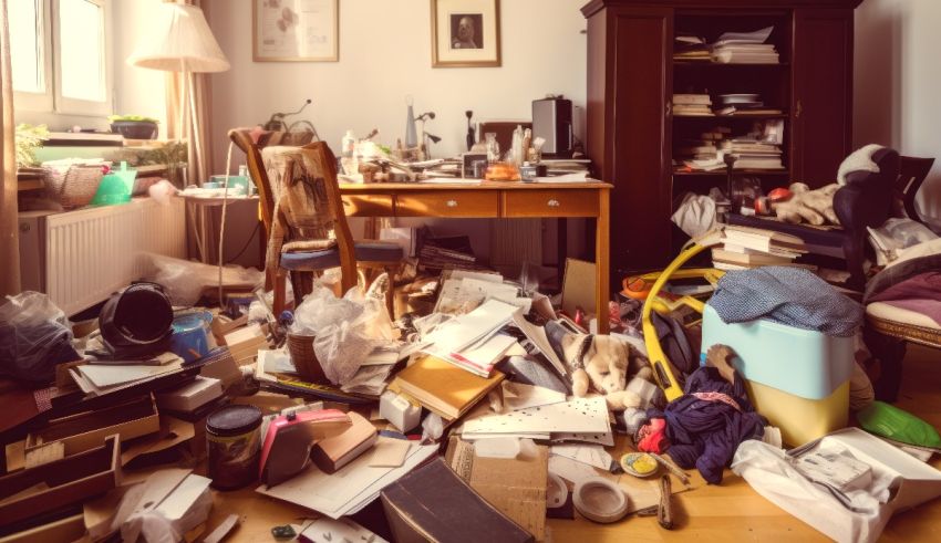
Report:
<svg viewBox="0 0 941 543"><path fill-rule="evenodd" d="M608 335L569 334L562 337L562 352L575 396L583 397L593 388L613 411L641 405L640 396L624 390L628 377L650 379L652 369L645 358L632 357L625 343Z"/></svg>

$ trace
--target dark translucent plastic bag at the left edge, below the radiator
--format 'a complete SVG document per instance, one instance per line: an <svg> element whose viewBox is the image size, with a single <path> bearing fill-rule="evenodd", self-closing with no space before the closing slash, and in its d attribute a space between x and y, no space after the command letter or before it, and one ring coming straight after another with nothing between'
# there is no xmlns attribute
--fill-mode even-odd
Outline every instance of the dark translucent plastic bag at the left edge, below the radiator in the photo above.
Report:
<svg viewBox="0 0 941 543"><path fill-rule="evenodd" d="M65 314L45 294L27 291L0 306L0 375L49 383L58 364L81 358Z"/></svg>

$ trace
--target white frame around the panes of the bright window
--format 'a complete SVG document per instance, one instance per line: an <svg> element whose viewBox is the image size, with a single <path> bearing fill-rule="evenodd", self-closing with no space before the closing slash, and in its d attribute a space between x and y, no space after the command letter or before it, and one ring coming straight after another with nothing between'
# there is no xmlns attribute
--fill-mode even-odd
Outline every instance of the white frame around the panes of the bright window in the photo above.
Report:
<svg viewBox="0 0 941 543"><path fill-rule="evenodd" d="M40 0L42 9L42 62L45 76L45 93L14 92L14 111L27 113L28 117L40 117L44 122L65 122L71 124L75 117L101 118L114 113L114 30L111 13L112 0L85 0L103 10L104 32L104 101L87 101L62 95L62 55L59 40L59 13L61 0ZM18 115L19 116L19 115Z"/></svg>

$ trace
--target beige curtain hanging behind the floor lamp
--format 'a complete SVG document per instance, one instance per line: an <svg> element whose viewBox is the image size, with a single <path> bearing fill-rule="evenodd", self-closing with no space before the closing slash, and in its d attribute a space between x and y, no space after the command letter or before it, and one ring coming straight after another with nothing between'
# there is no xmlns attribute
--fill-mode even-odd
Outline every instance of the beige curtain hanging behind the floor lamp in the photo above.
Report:
<svg viewBox="0 0 941 543"><path fill-rule="evenodd" d="M165 0L173 2L174 0ZM201 0L176 0L177 3L188 3L201 9L209 19L209 2ZM167 139L182 139L187 142L189 165L187 167L187 182L198 184L208 180L213 165L213 138L209 129L209 74L193 73L189 75L189 84L196 98L196 115L198 118L199 133L193 134L193 118L189 115L189 105L179 103L179 93L184 83L184 74L167 72L166 74L166 101L167 101ZM179 108L183 107L184 121L179 125ZM194 136L194 137L190 137Z"/></svg>

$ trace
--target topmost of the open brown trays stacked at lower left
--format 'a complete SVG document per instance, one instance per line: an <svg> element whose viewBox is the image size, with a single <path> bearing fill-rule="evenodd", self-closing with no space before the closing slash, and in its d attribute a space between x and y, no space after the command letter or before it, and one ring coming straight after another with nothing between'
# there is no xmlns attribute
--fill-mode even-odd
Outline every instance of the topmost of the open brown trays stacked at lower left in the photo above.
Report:
<svg viewBox="0 0 941 543"><path fill-rule="evenodd" d="M27 452L52 441L65 445L65 456L100 447L105 437L120 435L122 441L161 430L153 395L105 409L52 419L45 428L27 436Z"/></svg>

